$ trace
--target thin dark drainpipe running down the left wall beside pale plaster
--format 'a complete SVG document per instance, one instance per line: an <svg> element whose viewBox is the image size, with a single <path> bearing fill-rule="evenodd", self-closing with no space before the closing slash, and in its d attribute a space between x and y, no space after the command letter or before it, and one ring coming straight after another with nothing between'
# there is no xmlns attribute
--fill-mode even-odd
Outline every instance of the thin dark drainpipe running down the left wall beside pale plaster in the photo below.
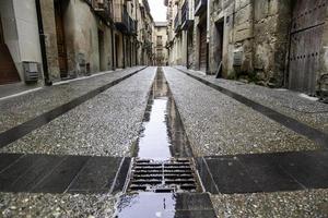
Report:
<svg viewBox="0 0 328 218"><path fill-rule="evenodd" d="M51 86L52 82L50 81L50 77L49 77L45 32L44 32L42 9L40 9L39 0L35 0L35 8L36 8L36 15L37 15L38 35L39 35L40 52L42 52L42 59L43 59L43 69L44 69L44 75L45 75L45 85Z"/></svg>

